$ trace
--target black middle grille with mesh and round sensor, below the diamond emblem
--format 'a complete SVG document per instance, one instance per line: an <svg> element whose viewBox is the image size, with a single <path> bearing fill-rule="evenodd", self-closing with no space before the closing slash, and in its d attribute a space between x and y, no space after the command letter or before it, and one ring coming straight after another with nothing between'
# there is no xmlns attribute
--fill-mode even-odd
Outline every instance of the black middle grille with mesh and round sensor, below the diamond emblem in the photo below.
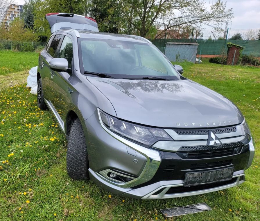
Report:
<svg viewBox="0 0 260 221"><path fill-rule="evenodd" d="M243 143L241 142L222 144L221 146L216 147L186 146L181 147L176 154L183 159L213 158L239 154L242 147Z"/></svg>

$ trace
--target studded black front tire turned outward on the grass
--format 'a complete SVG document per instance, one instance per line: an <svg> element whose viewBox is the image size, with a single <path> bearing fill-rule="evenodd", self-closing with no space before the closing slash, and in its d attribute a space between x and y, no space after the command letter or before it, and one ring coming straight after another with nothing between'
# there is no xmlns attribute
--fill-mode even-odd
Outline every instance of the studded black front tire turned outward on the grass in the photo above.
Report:
<svg viewBox="0 0 260 221"><path fill-rule="evenodd" d="M71 127L67 149L67 171L75 180L88 180L87 145L83 127L77 118Z"/></svg>

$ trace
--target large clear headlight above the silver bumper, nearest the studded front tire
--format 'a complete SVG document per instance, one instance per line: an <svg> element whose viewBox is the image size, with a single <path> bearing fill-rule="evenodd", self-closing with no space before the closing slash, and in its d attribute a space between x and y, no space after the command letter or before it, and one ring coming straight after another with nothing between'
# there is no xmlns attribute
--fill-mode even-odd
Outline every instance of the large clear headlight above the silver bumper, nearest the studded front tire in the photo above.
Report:
<svg viewBox="0 0 260 221"><path fill-rule="evenodd" d="M128 139L144 144L146 147L152 146L158 140L172 140L163 129L140 126L128 123L112 117L98 109L100 123L111 131Z"/></svg>

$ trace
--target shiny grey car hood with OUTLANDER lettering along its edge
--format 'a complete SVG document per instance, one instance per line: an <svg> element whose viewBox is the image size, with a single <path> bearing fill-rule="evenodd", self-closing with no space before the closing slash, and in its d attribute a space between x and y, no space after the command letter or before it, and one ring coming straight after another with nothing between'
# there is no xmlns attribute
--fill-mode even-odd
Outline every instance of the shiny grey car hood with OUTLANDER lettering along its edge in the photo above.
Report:
<svg viewBox="0 0 260 221"><path fill-rule="evenodd" d="M240 110L224 96L191 80L87 79L123 120L154 127L205 128L242 123ZM103 110L106 111L106 110Z"/></svg>

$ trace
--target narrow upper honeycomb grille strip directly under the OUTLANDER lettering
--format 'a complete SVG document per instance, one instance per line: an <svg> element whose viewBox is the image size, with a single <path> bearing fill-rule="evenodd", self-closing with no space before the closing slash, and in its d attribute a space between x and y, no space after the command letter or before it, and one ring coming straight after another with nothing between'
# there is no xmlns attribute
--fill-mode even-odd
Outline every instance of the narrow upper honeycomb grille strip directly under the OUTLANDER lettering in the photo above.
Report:
<svg viewBox="0 0 260 221"><path fill-rule="evenodd" d="M206 130L174 130L179 135L203 135L209 134L211 130L214 134L223 134L236 132L236 127L220 128L220 129L206 129Z"/></svg>

